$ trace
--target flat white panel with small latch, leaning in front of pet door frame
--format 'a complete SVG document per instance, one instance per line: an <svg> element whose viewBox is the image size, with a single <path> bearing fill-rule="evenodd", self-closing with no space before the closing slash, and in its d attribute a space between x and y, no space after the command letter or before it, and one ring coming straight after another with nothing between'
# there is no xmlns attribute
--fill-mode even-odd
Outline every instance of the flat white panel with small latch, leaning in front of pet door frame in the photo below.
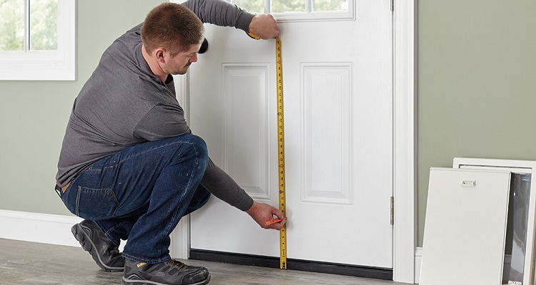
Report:
<svg viewBox="0 0 536 285"><path fill-rule="evenodd" d="M421 285L499 285L510 172L432 168Z"/></svg>

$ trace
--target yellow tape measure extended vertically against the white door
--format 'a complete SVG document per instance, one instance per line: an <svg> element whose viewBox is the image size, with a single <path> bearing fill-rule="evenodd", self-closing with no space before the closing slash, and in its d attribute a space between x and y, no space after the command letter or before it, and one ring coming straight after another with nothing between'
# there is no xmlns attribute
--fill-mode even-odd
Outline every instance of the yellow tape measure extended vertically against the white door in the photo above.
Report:
<svg viewBox="0 0 536 285"><path fill-rule="evenodd" d="M283 67L281 62L281 40L275 38L275 63L277 73L277 165L279 165L279 210L285 214L284 182L284 119L283 119ZM287 269L287 226L279 231L279 268Z"/></svg>

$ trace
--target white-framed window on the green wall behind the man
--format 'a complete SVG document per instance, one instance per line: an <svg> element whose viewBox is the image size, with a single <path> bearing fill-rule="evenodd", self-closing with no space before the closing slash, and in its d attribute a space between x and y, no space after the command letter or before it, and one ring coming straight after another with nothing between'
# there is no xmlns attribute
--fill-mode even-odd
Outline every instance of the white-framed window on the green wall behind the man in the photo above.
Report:
<svg viewBox="0 0 536 285"><path fill-rule="evenodd" d="M76 79L75 2L0 0L0 80Z"/></svg>

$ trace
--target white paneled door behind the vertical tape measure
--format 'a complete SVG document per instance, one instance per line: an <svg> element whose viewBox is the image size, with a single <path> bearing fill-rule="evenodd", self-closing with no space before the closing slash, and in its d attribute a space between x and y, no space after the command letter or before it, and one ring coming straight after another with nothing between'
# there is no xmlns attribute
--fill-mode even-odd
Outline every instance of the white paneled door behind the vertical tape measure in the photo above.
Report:
<svg viewBox="0 0 536 285"><path fill-rule="evenodd" d="M392 268L392 14L279 23L287 257ZM189 71L189 116L212 160L277 207L275 41L207 25ZM279 233L212 198L192 214L192 249L279 257Z"/></svg>

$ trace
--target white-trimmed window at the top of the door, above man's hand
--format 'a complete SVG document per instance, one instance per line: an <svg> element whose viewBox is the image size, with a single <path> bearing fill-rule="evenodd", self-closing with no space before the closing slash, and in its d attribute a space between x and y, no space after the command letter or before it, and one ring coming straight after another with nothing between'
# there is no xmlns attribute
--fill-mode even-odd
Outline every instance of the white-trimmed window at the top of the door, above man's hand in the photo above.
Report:
<svg viewBox="0 0 536 285"><path fill-rule="evenodd" d="M251 13L272 13L277 21L354 19L354 0L230 0Z"/></svg>

